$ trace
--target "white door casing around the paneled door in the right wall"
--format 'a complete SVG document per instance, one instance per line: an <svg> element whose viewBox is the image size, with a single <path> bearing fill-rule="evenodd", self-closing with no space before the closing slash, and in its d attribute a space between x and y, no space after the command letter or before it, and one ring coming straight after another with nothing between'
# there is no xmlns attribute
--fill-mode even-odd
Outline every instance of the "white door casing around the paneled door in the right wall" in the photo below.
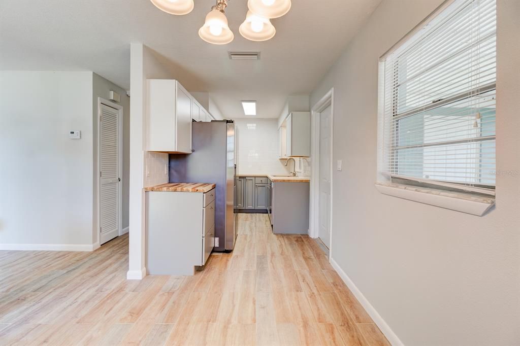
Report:
<svg viewBox="0 0 520 346"><path fill-rule="evenodd" d="M329 238L329 260L332 256L332 195L333 185L333 148L334 148L334 88L331 88L311 110L310 115L310 198L309 198L309 236L319 236L319 171L320 171L320 113L327 107L331 108L330 127L330 238Z"/></svg>

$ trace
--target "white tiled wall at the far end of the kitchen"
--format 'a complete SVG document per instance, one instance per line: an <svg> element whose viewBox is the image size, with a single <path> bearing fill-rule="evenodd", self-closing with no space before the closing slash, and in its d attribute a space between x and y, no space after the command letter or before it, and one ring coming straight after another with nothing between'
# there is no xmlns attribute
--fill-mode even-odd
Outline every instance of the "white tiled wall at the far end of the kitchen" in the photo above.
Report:
<svg viewBox="0 0 520 346"><path fill-rule="evenodd" d="M278 158L277 119L235 119L238 128L237 174L287 174L292 169Z"/></svg>

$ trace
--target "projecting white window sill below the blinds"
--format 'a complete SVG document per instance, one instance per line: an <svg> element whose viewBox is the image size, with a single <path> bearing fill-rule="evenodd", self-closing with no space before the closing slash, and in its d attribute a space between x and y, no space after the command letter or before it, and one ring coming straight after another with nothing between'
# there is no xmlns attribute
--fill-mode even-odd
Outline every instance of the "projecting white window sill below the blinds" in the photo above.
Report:
<svg viewBox="0 0 520 346"><path fill-rule="evenodd" d="M495 198L480 197L437 189L426 189L411 185L378 182L375 188L385 195L408 199L445 209L462 211L467 214L483 216L495 205Z"/></svg>

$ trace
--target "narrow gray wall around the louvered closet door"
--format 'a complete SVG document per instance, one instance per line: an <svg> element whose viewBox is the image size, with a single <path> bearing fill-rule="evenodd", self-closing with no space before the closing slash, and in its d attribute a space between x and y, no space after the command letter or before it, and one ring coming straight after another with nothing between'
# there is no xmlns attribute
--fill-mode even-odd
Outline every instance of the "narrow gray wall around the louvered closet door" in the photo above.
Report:
<svg viewBox="0 0 520 346"><path fill-rule="evenodd" d="M97 207L97 175L99 172L98 169L98 97L101 97L105 100L109 100L109 92L113 90L121 95L120 105L123 106L123 228L128 227L128 190L129 190L129 171L130 171L130 98L126 96L126 90L115 85L114 83L108 81L107 79L93 73L92 78L92 102L93 102L93 128L94 128L94 150L93 150L93 159L94 159L94 205L93 205L93 214L94 220L97 219L98 207ZM94 225L93 230L93 239L97 241L97 228Z"/></svg>

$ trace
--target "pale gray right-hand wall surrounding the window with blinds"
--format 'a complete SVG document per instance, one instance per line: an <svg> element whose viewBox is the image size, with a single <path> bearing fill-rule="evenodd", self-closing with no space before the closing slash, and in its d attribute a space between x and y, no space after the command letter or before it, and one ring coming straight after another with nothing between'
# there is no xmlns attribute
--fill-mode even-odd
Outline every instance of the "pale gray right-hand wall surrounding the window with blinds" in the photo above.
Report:
<svg viewBox="0 0 520 346"><path fill-rule="evenodd" d="M334 87L332 258L406 345L517 345L520 2L498 1L496 208L476 217L374 188L378 58L441 2L383 1L311 94Z"/></svg>

